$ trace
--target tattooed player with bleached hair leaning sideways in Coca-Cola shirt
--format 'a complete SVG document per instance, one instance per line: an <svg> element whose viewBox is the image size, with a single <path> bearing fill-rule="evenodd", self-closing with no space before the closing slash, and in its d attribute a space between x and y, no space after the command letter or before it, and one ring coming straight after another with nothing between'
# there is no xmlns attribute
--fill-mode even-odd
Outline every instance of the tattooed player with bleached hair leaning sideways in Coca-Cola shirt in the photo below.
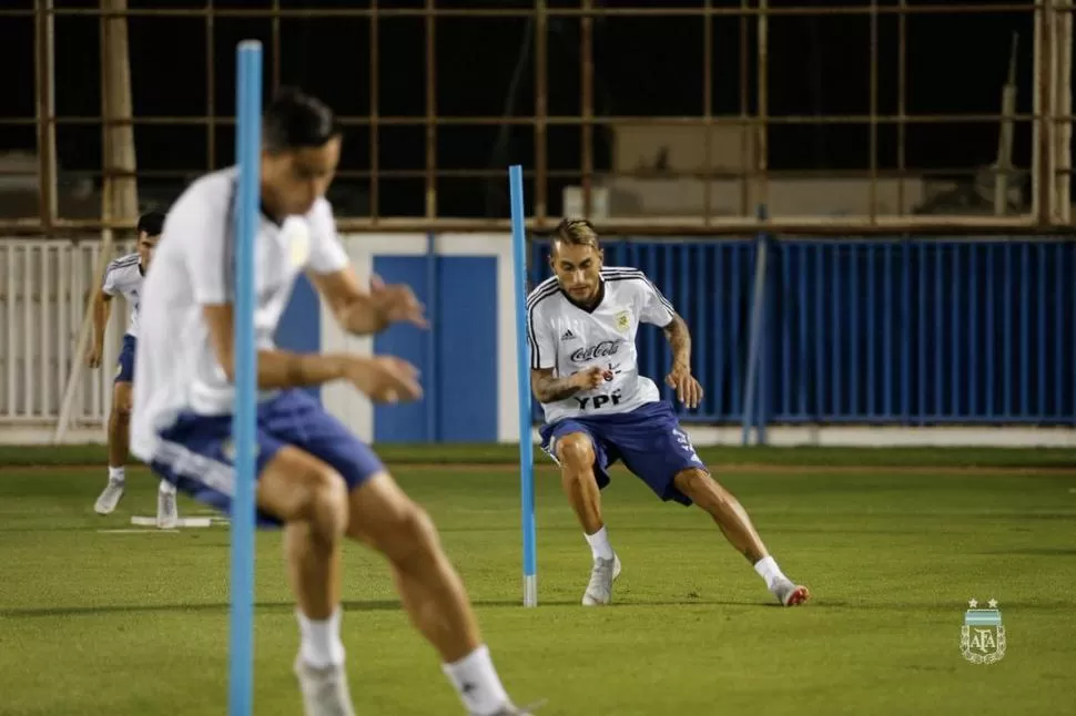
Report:
<svg viewBox="0 0 1076 716"><path fill-rule="evenodd" d="M743 507L710 474L672 406L639 375L640 323L664 330L672 347L666 382L688 408L702 400L691 375L691 336L661 291L633 268L602 266L589 222L565 219L552 237L555 276L527 299L531 386L542 403L542 449L561 469L561 483L593 556L586 606L608 604L620 559L601 518L599 491L609 467L621 460L664 501L698 504L743 554L784 605L800 604L808 589L780 570Z"/></svg>

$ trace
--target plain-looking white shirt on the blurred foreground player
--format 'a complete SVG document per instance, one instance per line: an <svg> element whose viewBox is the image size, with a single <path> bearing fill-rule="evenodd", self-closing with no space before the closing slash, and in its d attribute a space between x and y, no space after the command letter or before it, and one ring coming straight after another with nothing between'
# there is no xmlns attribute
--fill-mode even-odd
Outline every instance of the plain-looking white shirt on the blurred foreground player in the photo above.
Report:
<svg viewBox="0 0 1076 716"><path fill-rule="evenodd" d="M168 213L142 290L142 334L135 362L131 450L152 460L158 432L180 412L232 412L229 382L210 341L206 305L234 298L235 168L194 182ZM254 333L258 350L274 347L295 278L347 267L333 209L321 198L305 216L276 224L258 216L254 266ZM261 391L260 400L275 391Z"/></svg>

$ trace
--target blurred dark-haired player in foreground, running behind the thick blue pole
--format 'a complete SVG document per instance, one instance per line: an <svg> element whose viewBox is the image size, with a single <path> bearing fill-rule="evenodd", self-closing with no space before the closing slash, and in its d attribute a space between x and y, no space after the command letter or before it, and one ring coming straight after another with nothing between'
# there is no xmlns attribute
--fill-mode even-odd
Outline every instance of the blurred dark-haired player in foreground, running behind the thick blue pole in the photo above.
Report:
<svg viewBox="0 0 1076 716"><path fill-rule="evenodd" d="M404 607L438 652L467 712L524 714L500 683L429 518L374 451L301 388L345 381L375 401L410 400L420 395L414 367L388 356L294 354L273 344L301 272L352 334L396 321L425 326L406 286L359 286L324 198L339 152L333 113L318 100L287 90L266 108L254 270L257 519L284 528L301 634L294 672L305 713L354 714L339 633L341 551L349 538L387 558ZM235 481L235 180L234 168L209 174L169 212L142 296L131 440L158 473L225 511Z"/></svg>

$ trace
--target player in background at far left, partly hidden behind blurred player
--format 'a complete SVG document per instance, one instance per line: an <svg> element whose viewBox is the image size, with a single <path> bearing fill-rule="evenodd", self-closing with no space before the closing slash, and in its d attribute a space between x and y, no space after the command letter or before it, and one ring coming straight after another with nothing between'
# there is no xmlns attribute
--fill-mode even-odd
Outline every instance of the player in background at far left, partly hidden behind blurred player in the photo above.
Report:
<svg viewBox="0 0 1076 716"><path fill-rule="evenodd" d="M124 464L130 446L131 382L134 379L134 355L139 336L139 300L142 278L153 258L153 248L161 238L164 214L150 212L139 218L138 246L133 254L121 256L104 269L104 280L93 297L93 342L87 362L91 368L101 366L104 350L104 331L109 326L112 299L122 295L131 311L123 347L116 361L115 380L112 383L112 408L109 412L109 482L93 505L98 514L111 514L123 497L126 484ZM156 524L162 529L175 526L179 512L175 507L175 487L161 480L156 498Z"/></svg>

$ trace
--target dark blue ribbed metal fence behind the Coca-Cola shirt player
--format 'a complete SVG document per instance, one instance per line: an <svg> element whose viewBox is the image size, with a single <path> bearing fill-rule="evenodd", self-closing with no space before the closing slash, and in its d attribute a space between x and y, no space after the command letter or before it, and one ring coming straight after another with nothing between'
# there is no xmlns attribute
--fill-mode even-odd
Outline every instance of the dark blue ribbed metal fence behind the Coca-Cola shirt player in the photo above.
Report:
<svg viewBox="0 0 1076 716"><path fill-rule="evenodd" d="M607 265L646 272L691 328L707 396L683 420L743 418L760 246L761 421L1076 425L1072 239L609 242ZM532 282L547 256L535 246ZM660 330L639 355L660 383Z"/></svg>

